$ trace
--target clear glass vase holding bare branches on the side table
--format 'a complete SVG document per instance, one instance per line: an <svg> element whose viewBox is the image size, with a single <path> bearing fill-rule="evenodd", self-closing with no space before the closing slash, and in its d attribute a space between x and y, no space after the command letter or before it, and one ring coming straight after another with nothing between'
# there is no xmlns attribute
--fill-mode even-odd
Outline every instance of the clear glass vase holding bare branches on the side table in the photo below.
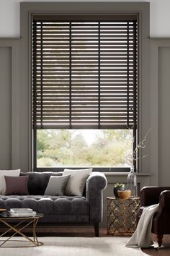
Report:
<svg viewBox="0 0 170 256"><path fill-rule="evenodd" d="M131 197L137 197L137 177L134 166L130 167L128 174L128 189L131 190Z"/></svg>

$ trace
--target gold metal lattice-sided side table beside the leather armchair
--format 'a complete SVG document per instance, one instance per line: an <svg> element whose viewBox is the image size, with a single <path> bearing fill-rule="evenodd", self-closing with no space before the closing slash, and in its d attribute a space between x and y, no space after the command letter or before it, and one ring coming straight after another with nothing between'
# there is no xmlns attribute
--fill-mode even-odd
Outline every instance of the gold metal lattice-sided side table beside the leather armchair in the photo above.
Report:
<svg viewBox="0 0 170 256"><path fill-rule="evenodd" d="M139 207L140 197L107 197L107 234L132 235L136 229L135 218Z"/></svg>

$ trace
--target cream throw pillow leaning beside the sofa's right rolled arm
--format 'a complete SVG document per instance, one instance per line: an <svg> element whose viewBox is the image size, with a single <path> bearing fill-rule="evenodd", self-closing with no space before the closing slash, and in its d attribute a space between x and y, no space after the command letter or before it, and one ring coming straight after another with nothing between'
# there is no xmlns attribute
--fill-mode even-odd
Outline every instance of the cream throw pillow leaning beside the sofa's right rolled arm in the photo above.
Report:
<svg viewBox="0 0 170 256"><path fill-rule="evenodd" d="M69 170L64 169L63 176L71 174L71 177L66 186L66 195L83 195L84 188L86 186L86 179L91 174L92 168Z"/></svg>

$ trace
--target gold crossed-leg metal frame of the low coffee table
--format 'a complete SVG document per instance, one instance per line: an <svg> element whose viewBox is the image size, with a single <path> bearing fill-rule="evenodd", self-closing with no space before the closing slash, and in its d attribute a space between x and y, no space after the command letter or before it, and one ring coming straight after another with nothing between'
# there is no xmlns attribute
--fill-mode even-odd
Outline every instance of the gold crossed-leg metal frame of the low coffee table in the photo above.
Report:
<svg viewBox="0 0 170 256"><path fill-rule="evenodd" d="M0 221L1 223L4 223L5 226L8 227L8 229L0 235L1 237L4 237L4 235L6 235L7 233L9 233L10 231L14 232L14 234L12 234L12 236L9 236L8 238L1 240L0 239L0 247L38 247L40 245L42 245L42 242L39 242L37 239L37 235L35 233L35 229L37 226L37 221L39 220L39 218L42 218L44 215L42 213L37 213L36 216L18 216L18 217L14 217L14 216L7 216L6 213L4 213L4 216L0 216ZM12 220L17 220L19 221L18 223L10 223L9 221ZM25 229L27 226L30 226L30 224L32 224L32 237L33 239L31 239L30 237L26 236L23 232L22 229ZM20 236L24 237L24 239L26 239L27 241L22 241L22 240L14 240L12 239L16 234L19 234ZM27 246L3 246L6 242L31 242L31 245L27 245Z"/></svg>

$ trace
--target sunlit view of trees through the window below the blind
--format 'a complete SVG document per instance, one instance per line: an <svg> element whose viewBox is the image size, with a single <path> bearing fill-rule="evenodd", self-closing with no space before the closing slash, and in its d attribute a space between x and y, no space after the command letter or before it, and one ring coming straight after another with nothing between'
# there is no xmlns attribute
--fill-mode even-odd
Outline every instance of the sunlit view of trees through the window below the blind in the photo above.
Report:
<svg viewBox="0 0 170 256"><path fill-rule="evenodd" d="M37 167L127 167L132 129L37 129Z"/></svg>

